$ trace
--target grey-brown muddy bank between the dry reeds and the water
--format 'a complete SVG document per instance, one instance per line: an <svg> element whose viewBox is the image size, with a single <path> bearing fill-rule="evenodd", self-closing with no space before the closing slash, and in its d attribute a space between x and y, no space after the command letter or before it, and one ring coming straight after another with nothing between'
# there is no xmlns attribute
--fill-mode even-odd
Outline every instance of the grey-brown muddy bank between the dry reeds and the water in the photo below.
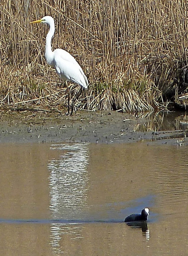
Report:
<svg viewBox="0 0 188 256"><path fill-rule="evenodd" d="M60 112L1 112L0 142L45 143L132 143L147 141L157 144L185 145L186 131L156 131L145 118L115 111L78 112L66 116Z"/></svg>

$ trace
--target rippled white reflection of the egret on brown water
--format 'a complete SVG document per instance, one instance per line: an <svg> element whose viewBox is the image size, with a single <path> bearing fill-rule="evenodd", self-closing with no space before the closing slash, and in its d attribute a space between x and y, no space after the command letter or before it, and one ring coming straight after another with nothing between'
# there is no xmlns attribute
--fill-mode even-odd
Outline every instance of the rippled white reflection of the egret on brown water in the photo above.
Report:
<svg viewBox="0 0 188 256"><path fill-rule="evenodd" d="M89 163L87 144L54 144L51 150L61 150L59 159L48 163L49 188L51 197L51 215L53 219L73 220L83 218L87 208ZM61 223L51 225L51 246L53 252L62 252L59 241L62 234L74 234L81 238L81 226L64 226ZM72 238L72 239L73 239Z"/></svg>

